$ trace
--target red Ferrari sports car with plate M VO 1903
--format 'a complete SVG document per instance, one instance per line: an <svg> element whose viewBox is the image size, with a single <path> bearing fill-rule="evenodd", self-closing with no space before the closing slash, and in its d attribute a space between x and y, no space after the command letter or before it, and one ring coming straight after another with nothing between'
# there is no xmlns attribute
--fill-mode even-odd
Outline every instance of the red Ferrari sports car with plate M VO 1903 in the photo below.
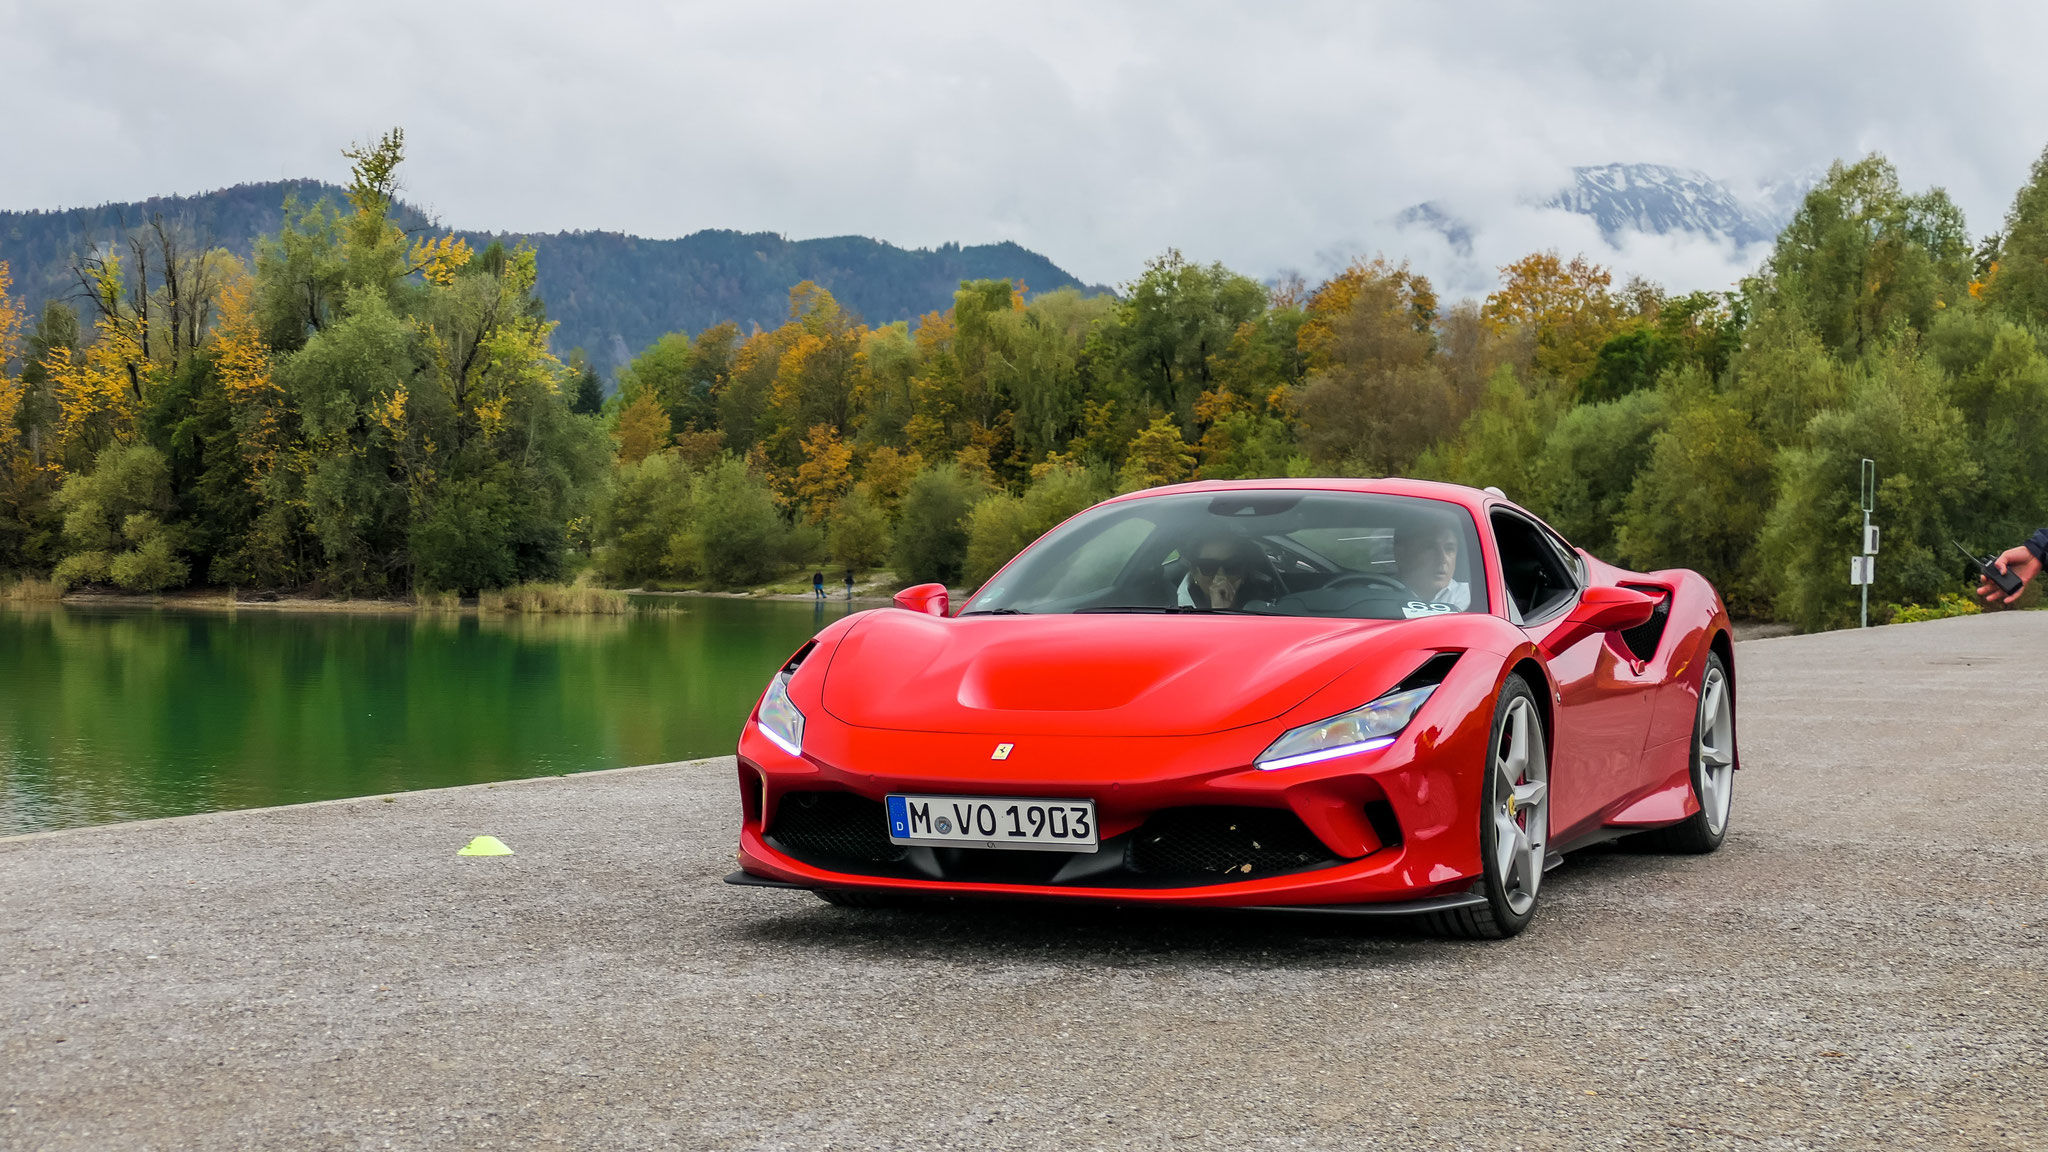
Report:
<svg viewBox="0 0 2048 1152"><path fill-rule="evenodd" d="M739 736L741 871L915 896L1421 914L1520 933L1563 853L1729 828L1735 648L1497 492L1153 488L948 613L846 617Z"/></svg>

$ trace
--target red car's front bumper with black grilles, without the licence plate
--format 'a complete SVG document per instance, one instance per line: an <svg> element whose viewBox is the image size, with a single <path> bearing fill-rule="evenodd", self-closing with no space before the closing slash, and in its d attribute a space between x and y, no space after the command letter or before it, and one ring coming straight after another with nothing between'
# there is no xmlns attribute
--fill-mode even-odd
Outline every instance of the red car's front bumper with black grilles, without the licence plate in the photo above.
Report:
<svg viewBox="0 0 2048 1152"><path fill-rule="evenodd" d="M1417 717L1389 748L1282 771L1249 767L1272 740L1264 728L1036 736L993 765L993 740L979 734L817 724L805 752L791 756L750 724L739 742L739 867L795 888L1247 908L1430 902L1419 910L1434 910L1464 900L1481 871L1479 773L1491 709L1464 707L1485 697L1432 703L1440 707L1425 715L1438 719ZM1102 845L1098 853L893 847L881 814L893 791L1087 797Z"/></svg>

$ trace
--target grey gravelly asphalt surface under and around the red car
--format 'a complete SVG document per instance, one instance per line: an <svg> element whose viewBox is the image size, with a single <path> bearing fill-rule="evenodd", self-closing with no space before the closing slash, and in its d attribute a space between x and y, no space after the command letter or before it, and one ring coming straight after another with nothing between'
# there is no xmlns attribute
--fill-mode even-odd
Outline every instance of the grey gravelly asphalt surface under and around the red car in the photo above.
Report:
<svg viewBox="0 0 2048 1152"><path fill-rule="evenodd" d="M1737 681L1505 943L727 888L727 760L6 840L0 1148L2040 1148L2048 613Z"/></svg>

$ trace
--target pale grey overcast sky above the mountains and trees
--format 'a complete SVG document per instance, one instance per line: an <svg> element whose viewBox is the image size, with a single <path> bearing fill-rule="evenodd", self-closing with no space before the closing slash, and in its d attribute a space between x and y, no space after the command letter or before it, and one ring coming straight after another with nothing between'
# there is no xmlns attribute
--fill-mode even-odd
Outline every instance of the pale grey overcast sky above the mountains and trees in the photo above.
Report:
<svg viewBox="0 0 2048 1152"><path fill-rule="evenodd" d="M2048 6L0 0L0 207L338 180L403 125L457 228L1016 240L1094 283L1167 246L1253 275L1454 277L1585 248L1673 287L1755 252L1530 211L1575 164L1737 187L1888 154L1997 228L2048 143Z"/></svg>

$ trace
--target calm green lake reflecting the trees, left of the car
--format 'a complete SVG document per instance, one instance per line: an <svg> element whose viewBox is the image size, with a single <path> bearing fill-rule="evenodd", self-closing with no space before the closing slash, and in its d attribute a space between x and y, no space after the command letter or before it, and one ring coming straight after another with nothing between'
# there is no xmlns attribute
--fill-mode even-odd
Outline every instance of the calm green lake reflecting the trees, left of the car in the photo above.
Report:
<svg viewBox="0 0 2048 1152"><path fill-rule="evenodd" d="M0 611L0 836L717 756L846 603Z"/></svg>

